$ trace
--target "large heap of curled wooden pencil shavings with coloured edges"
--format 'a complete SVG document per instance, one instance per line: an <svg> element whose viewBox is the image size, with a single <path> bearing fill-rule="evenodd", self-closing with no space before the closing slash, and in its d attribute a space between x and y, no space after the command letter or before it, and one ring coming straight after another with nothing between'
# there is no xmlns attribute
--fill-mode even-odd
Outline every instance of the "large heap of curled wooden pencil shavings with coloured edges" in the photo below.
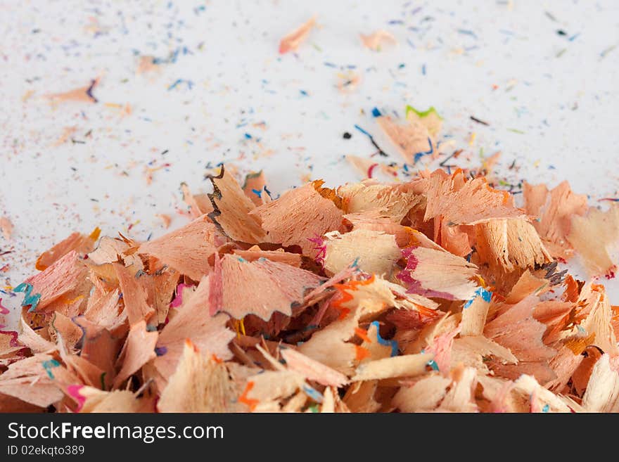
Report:
<svg viewBox="0 0 619 462"><path fill-rule="evenodd" d="M272 200L229 170L148 242L79 233L0 335L0 410L619 410L619 207L563 183L523 208L484 177L321 181Z"/></svg>

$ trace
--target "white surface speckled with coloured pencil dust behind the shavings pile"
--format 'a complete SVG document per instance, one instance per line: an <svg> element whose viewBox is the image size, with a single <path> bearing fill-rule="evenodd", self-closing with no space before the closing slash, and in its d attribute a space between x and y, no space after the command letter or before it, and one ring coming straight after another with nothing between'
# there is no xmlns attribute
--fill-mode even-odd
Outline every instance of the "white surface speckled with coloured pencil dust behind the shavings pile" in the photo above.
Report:
<svg viewBox="0 0 619 462"><path fill-rule="evenodd" d="M279 39L312 15L319 28L280 56ZM381 29L398 45L364 49L359 33ZM219 162L264 169L276 196L361 179L345 155L405 180L457 149L448 164L461 167L500 150L502 188L567 179L600 207L619 195L615 0L1 0L0 30L0 216L15 225L0 236L0 297L13 314L23 295L10 289L40 252L95 226L158 236L155 214L181 226L181 181L207 191ZM158 68L138 74L141 56ZM98 103L46 98L95 78ZM404 166L378 134L372 108L406 104L445 117L437 160Z"/></svg>

